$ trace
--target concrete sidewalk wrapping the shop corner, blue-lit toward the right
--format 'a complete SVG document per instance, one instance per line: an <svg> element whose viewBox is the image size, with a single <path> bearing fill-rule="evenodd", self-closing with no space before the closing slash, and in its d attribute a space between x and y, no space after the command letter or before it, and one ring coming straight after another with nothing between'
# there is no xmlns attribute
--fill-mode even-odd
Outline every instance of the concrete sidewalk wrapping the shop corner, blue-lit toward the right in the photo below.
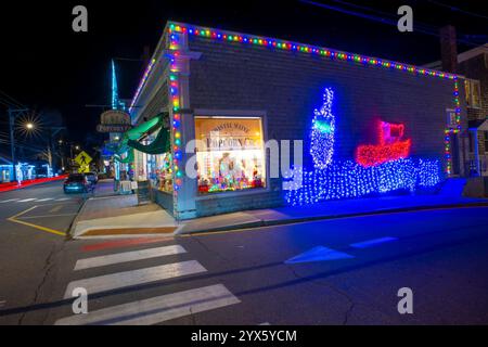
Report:
<svg viewBox="0 0 488 347"><path fill-rule="evenodd" d="M94 197L86 202L75 219L72 228L73 237L87 237L93 230L124 229L127 232L124 232L123 236L133 236L140 235L141 229L144 228L147 230L167 228L164 231L166 234L185 234L378 214L488 206L486 198L463 197L464 183L451 181L437 194L329 201L314 205L245 210L178 222L156 204L138 206L136 195L110 194L111 184L112 181L99 183L97 188L99 192L95 190ZM105 232L104 236L116 235Z"/></svg>

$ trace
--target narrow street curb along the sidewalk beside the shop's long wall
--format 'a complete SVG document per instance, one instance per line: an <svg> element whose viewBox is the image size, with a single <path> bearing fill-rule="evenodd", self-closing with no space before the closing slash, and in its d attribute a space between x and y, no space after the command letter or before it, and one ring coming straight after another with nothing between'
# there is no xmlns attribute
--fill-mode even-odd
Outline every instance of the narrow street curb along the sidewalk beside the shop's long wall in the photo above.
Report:
<svg viewBox="0 0 488 347"><path fill-rule="evenodd" d="M181 236L184 236L184 235L198 234L198 233L240 231L240 230L245 230L245 229L286 226L286 224L295 224L295 223L317 221L317 220L343 219L343 218L354 218L354 217L393 215L393 214L409 213L409 211L470 208L470 207L488 207L488 202L448 204L448 205L425 205L425 206L415 206L415 207L402 207L402 208L372 210L372 211L365 211L365 213L352 213L352 214L344 214L344 215L308 216L308 217L298 217L298 218L290 218L290 219L259 220L259 221L246 222L246 223L241 223L241 224L191 230L191 231L187 231L187 232L181 230L178 234Z"/></svg>

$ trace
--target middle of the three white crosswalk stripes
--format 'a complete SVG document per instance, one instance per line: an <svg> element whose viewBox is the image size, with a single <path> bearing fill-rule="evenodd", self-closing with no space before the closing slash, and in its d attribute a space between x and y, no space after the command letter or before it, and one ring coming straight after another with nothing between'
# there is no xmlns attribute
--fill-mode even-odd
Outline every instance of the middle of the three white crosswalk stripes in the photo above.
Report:
<svg viewBox="0 0 488 347"><path fill-rule="evenodd" d="M73 290L77 287L86 288L88 294L94 294L205 271L207 270L198 261L189 260L153 268L105 274L70 282L64 293L64 298L70 298Z"/></svg>

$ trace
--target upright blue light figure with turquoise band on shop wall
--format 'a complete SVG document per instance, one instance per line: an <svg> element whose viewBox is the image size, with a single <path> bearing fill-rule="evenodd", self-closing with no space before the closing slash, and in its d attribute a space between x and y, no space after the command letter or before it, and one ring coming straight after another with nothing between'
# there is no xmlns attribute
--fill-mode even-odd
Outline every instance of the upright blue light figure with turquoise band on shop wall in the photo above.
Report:
<svg viewBox="0 0 488 347"><path fill-rule="evenodd" d="M332 113L334 92L326 88L323 104L313 111L312 129L310 131L310 155L317 168L324 169L332 162L334 154L335 117Z"/></svg>

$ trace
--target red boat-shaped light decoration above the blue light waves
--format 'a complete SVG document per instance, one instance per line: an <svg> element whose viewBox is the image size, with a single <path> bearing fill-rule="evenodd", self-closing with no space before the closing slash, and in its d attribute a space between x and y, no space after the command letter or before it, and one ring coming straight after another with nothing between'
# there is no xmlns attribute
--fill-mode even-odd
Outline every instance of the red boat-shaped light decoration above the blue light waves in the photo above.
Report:
<svg viewBox="0 0 488 347"><path fill-rule="evenodd" d="M380 121L378 129L378 144L362 144L356 149L356 163L363 167L378 166L410 155L411 140L401 141L404 131L402 124Z"/></svg>

